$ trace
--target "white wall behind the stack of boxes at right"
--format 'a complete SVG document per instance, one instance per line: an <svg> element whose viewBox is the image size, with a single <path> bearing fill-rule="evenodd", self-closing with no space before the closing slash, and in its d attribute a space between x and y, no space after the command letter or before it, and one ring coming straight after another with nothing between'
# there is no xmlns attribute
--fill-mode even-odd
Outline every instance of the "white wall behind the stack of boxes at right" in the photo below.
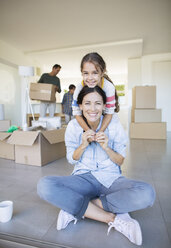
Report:
<svg viewBox="0 0 171 248"><path fill-rule="evenodd" d="M157 108L162 108L162 121L171 131L171 53L143 56L128 60L129 116L132 105L132 88L136 85L156 85Z"/></svg>

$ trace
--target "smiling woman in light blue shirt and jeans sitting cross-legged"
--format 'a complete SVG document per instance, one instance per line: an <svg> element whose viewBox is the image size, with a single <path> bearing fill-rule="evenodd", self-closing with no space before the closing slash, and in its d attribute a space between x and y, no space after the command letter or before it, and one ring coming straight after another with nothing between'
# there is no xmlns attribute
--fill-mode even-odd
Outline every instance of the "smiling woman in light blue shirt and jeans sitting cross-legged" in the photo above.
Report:
<svg viewBox="0 0 171 248"><path fill-rule="evenodd" d="M76 119L65 133L67 159L74 164L70 176L46 176L38 183L38 194L62 210L57 230L82 217L108 224L131 242L141 245L139 223L128 212L152 206L155 192L151 185L121 175L127 136L117 116L104 132L98 132L106 103L104 91L85 86L78 95L83 118L91 129L84 132ZM88 140L93 140L91 143Z"/></svg>

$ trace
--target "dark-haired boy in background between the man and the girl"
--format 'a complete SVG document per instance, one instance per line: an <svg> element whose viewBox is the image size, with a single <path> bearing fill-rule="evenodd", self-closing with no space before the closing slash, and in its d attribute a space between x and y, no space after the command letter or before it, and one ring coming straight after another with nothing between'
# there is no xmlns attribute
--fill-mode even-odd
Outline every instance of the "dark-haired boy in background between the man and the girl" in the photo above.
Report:
<svg viewBox="0 0 171 248"><path fill-rule="evenodd" d="M70 84L69 91L64 94L63 100L62 100L62 112L65 114L65 123L68 124L68 122L73 119L72 115L72 101L73 101L73 94L75 90L75 85Z"/></svg>

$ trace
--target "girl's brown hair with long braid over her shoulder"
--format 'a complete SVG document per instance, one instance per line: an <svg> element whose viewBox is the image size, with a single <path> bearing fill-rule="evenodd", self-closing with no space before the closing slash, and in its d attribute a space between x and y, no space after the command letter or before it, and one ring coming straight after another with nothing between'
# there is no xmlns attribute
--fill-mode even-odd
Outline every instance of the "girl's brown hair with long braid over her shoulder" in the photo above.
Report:
<svg viewBox="0 0 171 248"><path fill-rule="evenodd" d="M100 69L101 72L104 73L103 77L105 79L107 79L107 81L109 81L110 83L112 83L114 85L112 80L107 76L107 74L105 74L105 72L106 72L106 63L105 63L104 59L102 58L102 56L100 56L96 52L86 54L81 60L81 65L80 65L81 72L83 70L84 64L87 63L87 62L92 63L97 70ZM117 94L116 89L115 89L115 107L116 107L115 112L118 113L119 110L120 110L120 107L119 107L118 94Z"/></svg>

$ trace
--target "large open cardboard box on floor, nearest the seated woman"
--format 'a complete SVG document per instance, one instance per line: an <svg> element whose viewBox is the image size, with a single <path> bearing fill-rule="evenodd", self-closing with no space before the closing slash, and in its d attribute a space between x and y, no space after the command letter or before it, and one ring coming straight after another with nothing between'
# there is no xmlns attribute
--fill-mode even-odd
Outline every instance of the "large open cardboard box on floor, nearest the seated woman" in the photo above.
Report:
<svg viewBox="0 0 171 248"><path fill-rule="evenodd" d="M65 157L65 130L13 132L9 142L15 144L15 162L42 166Z"/></svg>

